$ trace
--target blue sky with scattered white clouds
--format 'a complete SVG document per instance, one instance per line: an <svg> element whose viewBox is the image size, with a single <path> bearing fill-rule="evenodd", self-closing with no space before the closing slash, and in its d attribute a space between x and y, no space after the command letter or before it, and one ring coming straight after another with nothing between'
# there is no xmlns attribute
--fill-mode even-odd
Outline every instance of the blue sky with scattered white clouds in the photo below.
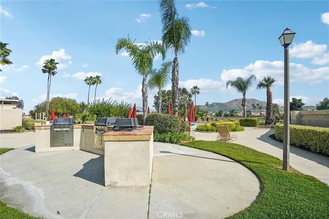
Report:
<svg viewBox="0 0 329 219"><path fill-rule="evenodd" d="M196 104L242 98L226 88L227 80L257 77L247 98L266 101L257 89L264 76L276 82L273 102L283 105L284 49L278 38L288 27L296 32L289 46L290 99L315 105L329 96L328 1L176 1L180 16L190 19L192 36L178 57L179 87L197 85ZM100 75L96 98L142 105L142 77L124 50L115 53L119 38L136 42L161 40L158 1L1 1L1 41L12 50L13 65L0 66L1 98L17 96L23 112L45 101L46 59L58 63L50 98L87 102L84 79ZM165 61L172 61L167 53ZM154 61L159 68L161 57ZM171 89L171 82L166 86ZM157 90L149 90L153 108ZM90 99L95 86L90 88Z"/></svg>

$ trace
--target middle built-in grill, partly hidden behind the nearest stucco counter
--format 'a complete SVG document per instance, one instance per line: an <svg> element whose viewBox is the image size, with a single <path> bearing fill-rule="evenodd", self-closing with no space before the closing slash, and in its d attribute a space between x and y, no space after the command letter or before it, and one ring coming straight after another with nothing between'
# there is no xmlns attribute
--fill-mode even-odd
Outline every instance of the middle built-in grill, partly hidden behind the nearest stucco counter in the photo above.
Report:
<svg viewBox="0 0 329 219"><path fill-rule="evenodd" d="M112 131L113 125L115 124L117 118L115 117L105 117L97 118L94 126L94 148L104 150L104 140L103 135L106 132Z"/></svg>

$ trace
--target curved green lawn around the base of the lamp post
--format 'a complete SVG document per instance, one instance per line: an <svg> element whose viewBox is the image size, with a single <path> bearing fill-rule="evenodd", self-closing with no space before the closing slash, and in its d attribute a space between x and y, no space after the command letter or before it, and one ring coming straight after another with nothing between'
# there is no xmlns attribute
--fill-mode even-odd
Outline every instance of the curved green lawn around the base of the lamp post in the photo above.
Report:
<svg viewBox="0 0 329 219"><path fill-rule="evenodd" d="M328 218L329 187L293 169L283 171L279 158L235 143L198 140L182 145L229 157L261 180L254 203L228 218Z"/></svg>

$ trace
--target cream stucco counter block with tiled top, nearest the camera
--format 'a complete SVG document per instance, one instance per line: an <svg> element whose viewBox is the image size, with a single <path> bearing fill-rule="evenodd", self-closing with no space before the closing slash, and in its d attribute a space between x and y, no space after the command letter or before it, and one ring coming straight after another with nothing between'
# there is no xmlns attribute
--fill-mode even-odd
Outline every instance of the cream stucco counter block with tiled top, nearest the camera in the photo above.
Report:
<svg viewBox="0 0 329 219"><path fill-rule="evenodd" d="M153 166L154 126L104 134L105 186L147 186Z"/></svg>

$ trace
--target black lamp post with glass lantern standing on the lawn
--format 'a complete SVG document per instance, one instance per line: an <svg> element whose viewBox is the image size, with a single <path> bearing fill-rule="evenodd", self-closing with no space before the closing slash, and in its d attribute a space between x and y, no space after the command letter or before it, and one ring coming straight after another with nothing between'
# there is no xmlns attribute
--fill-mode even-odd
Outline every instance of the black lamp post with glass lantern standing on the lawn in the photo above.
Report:
<svg viewBox="0 0 329 219"><path fill-rule="evenodd" d="M286 28L279 37L284 47L284 110L283 110L283 170L289 171L290 153L290 103L289 103L289 48L295 32Z"/></svg>

